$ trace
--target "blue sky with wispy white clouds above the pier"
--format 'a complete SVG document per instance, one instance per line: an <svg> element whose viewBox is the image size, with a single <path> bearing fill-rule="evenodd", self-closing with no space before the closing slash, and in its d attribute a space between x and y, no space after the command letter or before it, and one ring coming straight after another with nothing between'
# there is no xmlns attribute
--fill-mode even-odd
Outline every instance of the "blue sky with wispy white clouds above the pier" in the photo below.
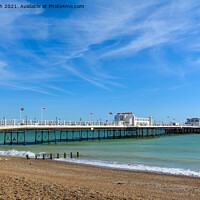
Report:
<svg viewBox="0 0 200 200"><path fill-rule="evenodd" d="M0 9L0 118L200 117L199 1L15 2L85 8Z"/></svg>

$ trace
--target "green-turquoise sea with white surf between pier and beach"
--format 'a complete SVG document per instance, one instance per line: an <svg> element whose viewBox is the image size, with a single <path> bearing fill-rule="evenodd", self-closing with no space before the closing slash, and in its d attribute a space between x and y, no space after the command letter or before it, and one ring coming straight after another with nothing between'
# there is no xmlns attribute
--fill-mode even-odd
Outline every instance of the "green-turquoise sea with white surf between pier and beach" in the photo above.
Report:
<svg viewBox="0 0 200 200"><path fill-rule="evenodd" d="M28 135L28 134L27 134ZM33 136L27 136L32 137ZM1 137L1 141L2 141ZM70 158L70 152L80 157ZM200 134L161 136L154 138L123 138L89 141L62 141L28 144L0 144L0 156L31 158L35 153L67 153L60 162L92 165L103 168L145 171L160 174L200 177ZM40 158L42 159L42 158Z"/></svg>

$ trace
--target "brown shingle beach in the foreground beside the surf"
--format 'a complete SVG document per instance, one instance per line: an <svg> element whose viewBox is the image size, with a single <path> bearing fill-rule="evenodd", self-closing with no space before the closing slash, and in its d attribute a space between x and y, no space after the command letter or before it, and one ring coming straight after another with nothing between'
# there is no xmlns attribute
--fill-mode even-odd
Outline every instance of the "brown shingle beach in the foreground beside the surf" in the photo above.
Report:
<svg viewBox="0 0 200 200"><path fill-rule="evenodd" d="M200 199L200 178L1 159L0 199Z"/></svg>

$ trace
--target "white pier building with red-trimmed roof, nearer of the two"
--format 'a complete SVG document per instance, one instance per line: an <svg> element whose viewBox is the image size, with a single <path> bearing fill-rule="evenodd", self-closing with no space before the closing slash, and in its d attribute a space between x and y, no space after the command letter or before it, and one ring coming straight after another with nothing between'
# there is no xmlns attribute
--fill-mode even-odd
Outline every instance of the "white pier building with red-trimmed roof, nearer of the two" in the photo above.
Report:
<svg viewBox="0 0 200 200"><path fill-rule="evenodd" d="M132 112L117 113L117 115L115 115L115 124L125 126L151 126L152 117L139 118L136 117Z"/></svg>

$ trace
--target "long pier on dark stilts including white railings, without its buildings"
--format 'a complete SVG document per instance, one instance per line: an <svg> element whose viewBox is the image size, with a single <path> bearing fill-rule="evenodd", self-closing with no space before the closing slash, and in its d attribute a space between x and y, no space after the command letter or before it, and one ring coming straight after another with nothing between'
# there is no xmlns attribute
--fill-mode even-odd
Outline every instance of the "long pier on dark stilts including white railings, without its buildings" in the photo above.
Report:
<svg viewBox="0 0 200 200"><path fill-rule="evenodd" d="M27 136L32 136L32 141ZM149 138L167 135L200 134L199 126L154 124L149 126L117 125L114 122L0 122L0 143L26 145L84 140ZM34 137L34 139L33 139Z"/></svg>

